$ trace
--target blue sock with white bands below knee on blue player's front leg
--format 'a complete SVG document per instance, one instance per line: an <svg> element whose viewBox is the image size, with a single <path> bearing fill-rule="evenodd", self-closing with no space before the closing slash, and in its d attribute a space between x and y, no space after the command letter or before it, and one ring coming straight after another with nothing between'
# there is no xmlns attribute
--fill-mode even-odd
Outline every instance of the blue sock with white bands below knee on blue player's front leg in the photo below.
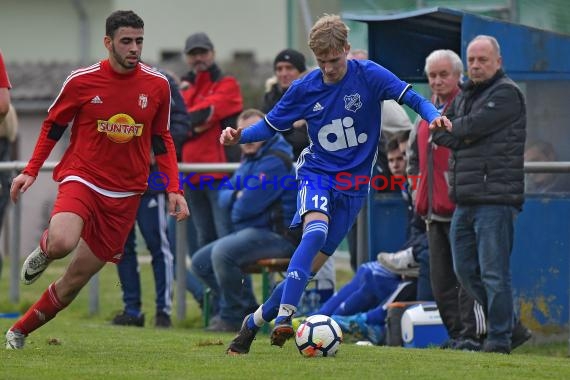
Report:
<svg viewBox="0 0 570 380"><path fill-rule="evenodd" d="M299 304L311 274L313 259L325 244L327 232L328 224L322 220L314 220L305 226L301 242L295 250L287 269L281 305L290 305L296 308ZM281 313L280 309L276 322L286 317L287 315Z"/></svg>

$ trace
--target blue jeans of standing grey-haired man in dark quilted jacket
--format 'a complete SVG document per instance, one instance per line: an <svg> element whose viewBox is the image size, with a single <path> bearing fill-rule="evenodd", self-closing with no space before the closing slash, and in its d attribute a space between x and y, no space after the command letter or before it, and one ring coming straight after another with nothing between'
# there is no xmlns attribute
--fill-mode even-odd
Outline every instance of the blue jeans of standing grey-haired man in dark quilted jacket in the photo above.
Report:
<svg viewBox="0 0 570 380"><path fill-rule="evenodd" d="M487 313L487 341L509 348L514 320L510 258L517 214L508 205L457 206L450 228L454 270Z"/></svg>

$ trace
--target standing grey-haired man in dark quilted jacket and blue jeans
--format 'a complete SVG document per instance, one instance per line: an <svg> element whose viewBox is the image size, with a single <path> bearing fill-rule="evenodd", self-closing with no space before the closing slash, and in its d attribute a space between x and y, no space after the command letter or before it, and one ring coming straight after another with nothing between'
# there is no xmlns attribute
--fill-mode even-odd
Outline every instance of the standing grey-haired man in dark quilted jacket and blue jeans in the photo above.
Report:
<svg viewBox="0 0 570 380"><path fill-rule="evenodd" d="M453 127L438 128L433 137L453 152L453 261L459 281L487 313L483 350L510 353L530 338L525 329L522 342L511 342L510 255L515 217L524 202L526 107L522 92L501 66L495 38L480 35L469 43L469 80L447 112Z"/></svg>

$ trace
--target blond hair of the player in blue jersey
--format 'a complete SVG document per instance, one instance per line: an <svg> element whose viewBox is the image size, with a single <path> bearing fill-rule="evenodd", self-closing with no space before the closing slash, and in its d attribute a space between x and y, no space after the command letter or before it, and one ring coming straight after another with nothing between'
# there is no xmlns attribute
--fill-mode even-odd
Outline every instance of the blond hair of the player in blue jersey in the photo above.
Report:
<svg viewBox="0 0 570 380"><path fill-rule="evenodd" d="M340 16L325 14L309 33L309 47L316 55L342 52L348 45L349 27Z"/></svg>

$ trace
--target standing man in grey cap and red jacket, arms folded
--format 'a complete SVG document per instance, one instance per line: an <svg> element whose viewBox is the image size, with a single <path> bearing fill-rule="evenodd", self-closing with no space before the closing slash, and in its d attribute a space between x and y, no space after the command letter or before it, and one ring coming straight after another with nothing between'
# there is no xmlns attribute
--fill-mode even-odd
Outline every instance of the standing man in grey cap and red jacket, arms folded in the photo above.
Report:
<svg viewBox="0 0 570 380"><path fill-rule="evenodd" d="M225 127L235 126L235 120L242 111L239 84L235 78L224 75L216 65L214 45L205 33L190 35L186 39L184 52L190 71L182 77L181 92L193 133L182 146L182 162L228 162L227 152L219 144L218 138ZM187 188L185 193L192 208L198 248L232 230L229 213L218 205L217 188L226 175L188 175L187 182L193 187Z"/></svg>

